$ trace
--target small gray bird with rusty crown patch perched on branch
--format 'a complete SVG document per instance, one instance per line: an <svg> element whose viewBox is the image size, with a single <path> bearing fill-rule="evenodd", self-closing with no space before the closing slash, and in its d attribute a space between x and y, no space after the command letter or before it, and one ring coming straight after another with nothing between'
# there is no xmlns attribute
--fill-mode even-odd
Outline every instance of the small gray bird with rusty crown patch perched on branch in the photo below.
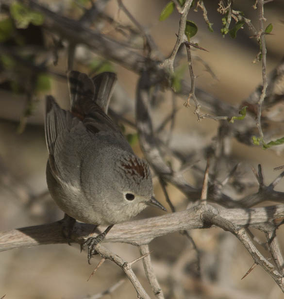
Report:
<svg viewBox="0 0 284 299"><path fill-rule="evenodd" d="M105 72L90 79L71 71L67 77L71 111L61 109L51 96L46 100L46 175L57 205L79 221L108 225L104 235L147 205L166 210L153 197L148 163L134 154L106 115L116 75ZM84 243L89 259L100 239Z"/></svg>

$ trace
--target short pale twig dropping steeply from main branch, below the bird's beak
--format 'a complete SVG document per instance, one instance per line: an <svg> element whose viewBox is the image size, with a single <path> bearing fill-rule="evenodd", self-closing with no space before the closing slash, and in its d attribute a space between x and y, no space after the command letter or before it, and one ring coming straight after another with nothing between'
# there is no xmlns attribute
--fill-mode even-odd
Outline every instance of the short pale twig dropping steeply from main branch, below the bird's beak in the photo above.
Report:
<svg viewBox="0 0 284 299"><path fill-rule="evenodd" d="M149 245L140 245L139 246L140 254L143 258L143 266L145 270L146 277L150 283L152 291L157 299L164 299L163 291L160 287L160 284L156 278L154 273L152 264L151 264L151 257L149 251Z"/></svg>

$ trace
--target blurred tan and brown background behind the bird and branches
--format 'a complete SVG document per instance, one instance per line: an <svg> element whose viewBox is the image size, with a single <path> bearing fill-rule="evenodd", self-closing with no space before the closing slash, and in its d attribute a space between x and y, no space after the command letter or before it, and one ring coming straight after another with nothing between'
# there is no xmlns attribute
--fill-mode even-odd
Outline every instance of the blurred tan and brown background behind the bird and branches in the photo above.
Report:
<svg viewBox="0 0 284 299"><path fill-rule="evenodd" d="M84 9L90 7L86 0L39 2L57 14L72 19L80 19ZM63 212L50 198L45 178L48 157L43 127L45 96L51 94L61 107L68 109L69 106L66 81L67 41L64 37L46 30L40 14L32 15L32 21L25 24L26 19L22 20L17 16L17 9L15 12L15 5L14 9L11 9L11 3L15 2L0 1L1 231L49 223L63 217ZM133 23L119 10L117 1L100 3L105 5L103 11L111 20L98 18L90 25L91 29L128 42L114 27L121 26L124 31L131 31L135 28ZM160 52L157 56L167 57L176 42L178 13L173 12L167 20L159 21L159 15L167 1L123 0L123 4L146 32L151 34ZM191 10L188 15L188 19L198 26L198 33L192 41L208 50L194 51L197 87L239 107L262 82L261 63L252 63L259 50L256 39L251 38L252 33L247 26L237 32L235 39L229 35L223 38L220 33L223 16L217 12L218 1L204 1L204 4L210 22L214 23L213 33L208 30L200 9L198 12ZM254 1L251 0L235 1L234 7L244 12L258 28L257 10L252 8L253 4ZM284 56L283 16L283 0L274 0L265 5L265 24L273 24L273 35L266 37L267 72L273 70ZM143 38L139 34L133 34L132 37L133 45L141 49ZM185 63L185 51L181 51L177 69L181 69ZM190 81L186 67L183 71L184 79ZM88 74L104 70L116 72L118 81L110 107L116 115L134 122L138 74L119 63L97 56L84 45L76 47L73 69ZM198 152L212 142L217 134L218 123L211 119L198 122L193 114L194 105L185 108L185 100L186 98L178 96L173 100L169 91L160 92L153 106L152 118L157 128L175 105L178 112L169 146L184 153ZM282 109L284 111L284 108ZM134 150L142 156L135 130L126 123L119 124ZM169 126L162 138L167 139L168 131ZM258 188L250 166L256 167L261 163L265 182L270 183L278 175L273 168L284 164L282 147L264 151L260 147L250 147L235 140L231 141L230 157L236 163L243 162L240 175L244 177L244 181L251 182L248 191L250 193L256 192ZM204 166L204 159L200 159L200 165ZM223 169L224 173L230 170ZM200 183L190 169L185 177L193 185ZM157 199L168 208L156 178L154 184ZM280 183L277 190L284 191L284 184ZM180 191L170 185L167 186L167 191L177 210L186 207L188 199ZM161 213L148 208L138 218L156 215ZM283 230L281 232L283 233ZM260 239L263 237L260 233L255 233ZM196 252L182 234L167 235L150 244L150 249L153 250L151 257L154 272L166 298L284 298L279 287L260 266L241 280L253 261L233 235L210 229L192 231L191 236L200 251L202 280L196 274ZM281 241L284 248L284 240ZM127 261L139 256L138 249L131 245L106 246ZM262 252L265 254L265 251ZM100 258L95 257L92 265L88 265L86 252L80 253L79 245L48 245L1 252L0 298L5 294L5 299L92 298L124 277L118 266L106 261L87 282L99 261ZM141 262L134 265L134 271L146 291L151 294ZM150 296L154 298L154 295ZM102 298L136 298L136 292L131 283L125 280L112 294Z"/></svg>

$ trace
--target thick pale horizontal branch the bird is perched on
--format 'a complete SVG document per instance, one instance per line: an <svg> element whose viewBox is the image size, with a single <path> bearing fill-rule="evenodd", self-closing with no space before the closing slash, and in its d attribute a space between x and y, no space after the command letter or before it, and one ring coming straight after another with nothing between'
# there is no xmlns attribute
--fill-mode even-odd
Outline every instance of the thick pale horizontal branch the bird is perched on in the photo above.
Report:
<svg viewBox="0 0 284 299"><path fill-rule="evenodd" d="M284 220L284 204L252 209L214 208L211 205L195 206L189 210L134 220L114 225L103 242L122 242L136 246L149 244L156 237L184 230L217 227L204 221L202 215L209 213L239 228L256 228L271 231ZM62 235L61 220L50 224L19 228L0 233L0 251L33 247L46 244L67 243ZM77 222L71 240L81 244L84 238L95 236L91 224ZM100 227L103 231L105 227Z"/></svg>

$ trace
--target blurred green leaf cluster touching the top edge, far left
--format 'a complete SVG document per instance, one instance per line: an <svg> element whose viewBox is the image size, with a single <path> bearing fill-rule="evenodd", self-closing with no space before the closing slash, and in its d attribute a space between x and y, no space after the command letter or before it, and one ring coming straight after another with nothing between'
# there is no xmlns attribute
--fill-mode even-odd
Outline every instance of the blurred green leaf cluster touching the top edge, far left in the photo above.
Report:
<svg viewBox="0 0 284 299"><path fill-rule="evenodd" d="M39 26L43 24L44 17L41 13L32 11L19 2L13 2L10 6L11 16L14 18L16 27L26 29L30 23Z"/></svg>

